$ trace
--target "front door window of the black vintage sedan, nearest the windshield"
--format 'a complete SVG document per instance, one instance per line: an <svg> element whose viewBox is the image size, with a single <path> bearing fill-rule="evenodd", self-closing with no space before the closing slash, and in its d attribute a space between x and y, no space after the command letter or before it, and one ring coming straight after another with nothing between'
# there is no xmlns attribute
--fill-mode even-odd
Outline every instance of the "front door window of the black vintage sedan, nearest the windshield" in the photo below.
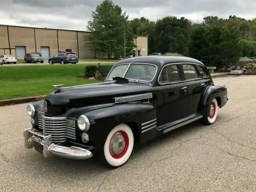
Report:
<svg viewBox="0 0 256 192"><path fill-rule="evenodd" d="M180 73L177 65L168 65L165 66L160 74L159 82L160 83L171 83L180 81Z"/></svg>

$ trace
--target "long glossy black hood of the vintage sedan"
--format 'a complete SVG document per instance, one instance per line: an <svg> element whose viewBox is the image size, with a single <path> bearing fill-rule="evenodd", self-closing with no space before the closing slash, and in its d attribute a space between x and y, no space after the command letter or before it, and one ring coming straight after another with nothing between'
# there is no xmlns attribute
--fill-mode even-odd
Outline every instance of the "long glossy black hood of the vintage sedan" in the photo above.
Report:
<svg viewBox="0 0 256 192"><path fill-rule="evenodd" d="M61 115L71 108L114 103L114 97L148 93L150 90L153 90L153 87L133 82L104 82L63 88L46 96L46 116Z"/></svg>

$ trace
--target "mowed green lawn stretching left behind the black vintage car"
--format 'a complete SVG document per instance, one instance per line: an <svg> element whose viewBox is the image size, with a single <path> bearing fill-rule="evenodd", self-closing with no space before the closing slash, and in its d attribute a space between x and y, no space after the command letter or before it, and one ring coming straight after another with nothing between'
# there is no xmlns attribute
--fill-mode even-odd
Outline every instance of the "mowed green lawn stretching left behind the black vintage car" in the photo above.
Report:
<svg viewBox="0 0 256 192"><path fill-rule="evenodd" d="M53 84L74 86L100 82L76 77L84 75L86 65L88 64L0 67L0 100L48 94L54 91Z"/></svg>

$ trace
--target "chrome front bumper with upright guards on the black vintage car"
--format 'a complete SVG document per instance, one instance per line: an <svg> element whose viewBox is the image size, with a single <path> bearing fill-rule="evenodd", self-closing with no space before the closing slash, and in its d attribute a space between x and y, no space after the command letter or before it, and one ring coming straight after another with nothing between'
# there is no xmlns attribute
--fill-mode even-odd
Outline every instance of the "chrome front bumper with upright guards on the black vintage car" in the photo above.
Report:
<svg viewBox="0 0 256 192"><path fill-rule="evenodd" d="M92 152L86 149L75 146L66 147L56 145L51 142L51 135L45 136L33 128L24 130L24 137L25 148L31 149L34 147L36 151L44 154L45 158L52 155L76 160L84 160L92 157Z"/></svg>

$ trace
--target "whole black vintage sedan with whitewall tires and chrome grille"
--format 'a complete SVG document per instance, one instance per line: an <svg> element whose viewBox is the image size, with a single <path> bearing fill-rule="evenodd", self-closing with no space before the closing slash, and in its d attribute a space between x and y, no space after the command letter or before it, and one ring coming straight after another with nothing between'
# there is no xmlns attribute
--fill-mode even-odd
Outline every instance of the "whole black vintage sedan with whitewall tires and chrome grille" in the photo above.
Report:
<svg viewBox="0 0 256 192"><path fill-rule="evenodd" d="M142 56L114 64L102 83L53 86L28 105L32 127L25 147L77 160L98 154L105 166L122 166L135 142L145 143L201 119L212 124L228 101L206 66L193 58Z"/></svg>

